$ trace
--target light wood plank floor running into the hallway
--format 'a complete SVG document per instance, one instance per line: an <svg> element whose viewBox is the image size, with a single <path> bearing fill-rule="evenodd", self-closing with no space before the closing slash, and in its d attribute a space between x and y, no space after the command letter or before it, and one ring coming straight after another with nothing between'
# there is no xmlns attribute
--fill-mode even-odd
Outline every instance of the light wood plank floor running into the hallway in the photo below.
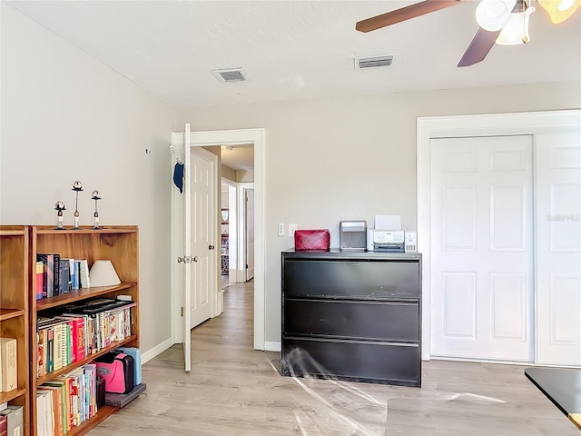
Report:
<svg viewBox="0 0 581 436"><path fill-rule="evenodd" d="M423 362L421 388L281 377L280 353L252 350L252 292L228 286L192 331L192 372L181 346L162 352L147 391L90 436L581 435L523 366Z"/></svg>

